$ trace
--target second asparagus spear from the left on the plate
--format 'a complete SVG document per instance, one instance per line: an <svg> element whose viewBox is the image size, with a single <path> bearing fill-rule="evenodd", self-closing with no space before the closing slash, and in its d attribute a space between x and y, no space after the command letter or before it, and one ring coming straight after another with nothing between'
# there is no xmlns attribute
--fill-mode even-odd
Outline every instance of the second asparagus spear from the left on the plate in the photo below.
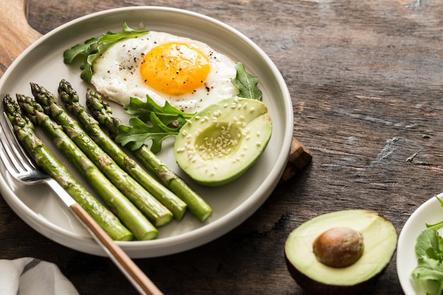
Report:
<svg viewBox="0 0 443 295"><path fill-rule="evenodd" d="M114 214L127 226L138 240L151 240L156 238L159 231L130 202L125 195L117 190L110 180L98 170L91 160L74 144L63 132L62 127L52 121L43 112L42 107L32 98L17 94L18 104L21 110L33 121L40 125L45 134L52 139L57 149L74 164L77 170L84 176L97 194L108 204Z"/></svg>

